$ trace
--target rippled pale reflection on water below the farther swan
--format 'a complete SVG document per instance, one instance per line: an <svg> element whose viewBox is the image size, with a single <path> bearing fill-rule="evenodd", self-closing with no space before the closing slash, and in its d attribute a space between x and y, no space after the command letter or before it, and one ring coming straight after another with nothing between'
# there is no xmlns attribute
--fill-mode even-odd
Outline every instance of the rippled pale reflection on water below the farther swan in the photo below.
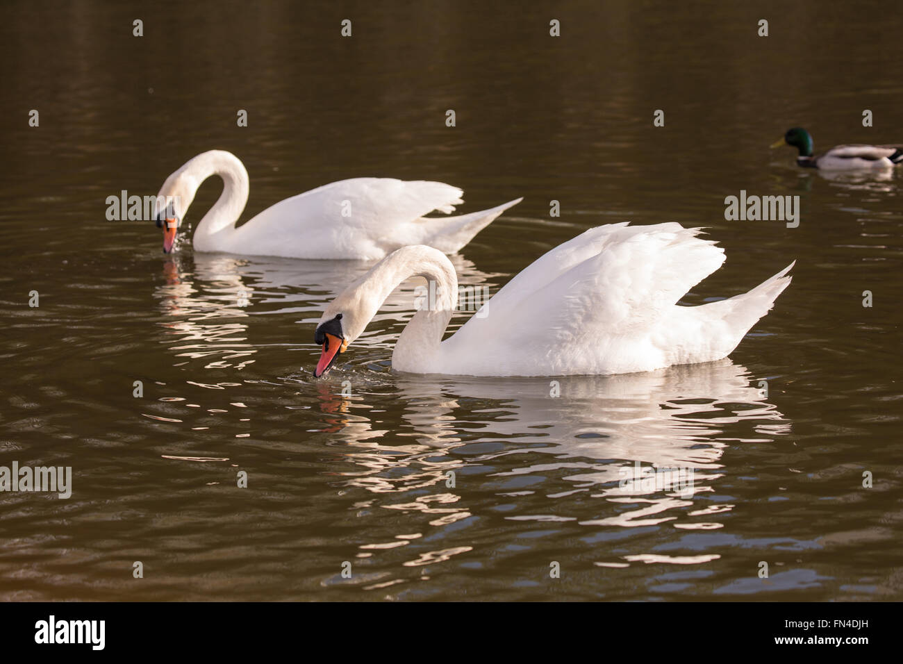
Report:
<svg viewBox="0 0 903 664"><path fill-rule="evenodd" d="M461 256L450 258L463 285L484 285L494 276ZM250 318L295 314L293 321L312 326L312 337L324 306L372 265L348 260L174 254L163 264L165 283L154 293L166 318L160 323L167 331L163 343L178 358L204 360L204 369L242 369L254 361L250 358L262 345L268 345L249 332ZM406 321L414 311L414 286L418 284L412 279L396 289L374 320ZM293 332L275 342L284 345L300 338L299 331ZM390 345L396 333L371 332L367 336L368 342ZM269 344L273 342L269 340Z"/></svg>

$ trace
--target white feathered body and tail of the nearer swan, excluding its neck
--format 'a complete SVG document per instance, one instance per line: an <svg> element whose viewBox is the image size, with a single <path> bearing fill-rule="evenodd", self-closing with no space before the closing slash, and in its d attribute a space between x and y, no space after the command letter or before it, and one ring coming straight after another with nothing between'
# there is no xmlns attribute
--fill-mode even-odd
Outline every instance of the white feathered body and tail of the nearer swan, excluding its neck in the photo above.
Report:
<svg viewBox="0 0 903 664"><path fill-rule="evenodd" d="M786 270L760 296L677 306L721 267L724 250L678 223L611 224L554 248L512 279L442 343L452 373L627 373L719 360L787 286ZM770 298L770 299L769 299ZM467 349L479 349L471 352ZM492 358L480 366L480 358Z"/></svg>

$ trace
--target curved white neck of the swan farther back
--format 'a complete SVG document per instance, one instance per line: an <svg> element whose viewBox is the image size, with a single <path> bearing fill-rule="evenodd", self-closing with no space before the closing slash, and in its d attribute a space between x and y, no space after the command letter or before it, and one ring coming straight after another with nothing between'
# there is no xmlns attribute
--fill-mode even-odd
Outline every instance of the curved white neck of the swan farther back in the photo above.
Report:
<svg viewBox="0 0 903 664"><path fill-rule="evenodd" d="M225 249L228 235L235 230L235 222L241 216L247 203L247 171L237 156L222 150L211 150L199 154L184 166L184 175L191 182L191 198L198 191L201 182L211 175L219 175L223 180L223 192L200 220L194 231L194 248L199 251Z"/></svg>

